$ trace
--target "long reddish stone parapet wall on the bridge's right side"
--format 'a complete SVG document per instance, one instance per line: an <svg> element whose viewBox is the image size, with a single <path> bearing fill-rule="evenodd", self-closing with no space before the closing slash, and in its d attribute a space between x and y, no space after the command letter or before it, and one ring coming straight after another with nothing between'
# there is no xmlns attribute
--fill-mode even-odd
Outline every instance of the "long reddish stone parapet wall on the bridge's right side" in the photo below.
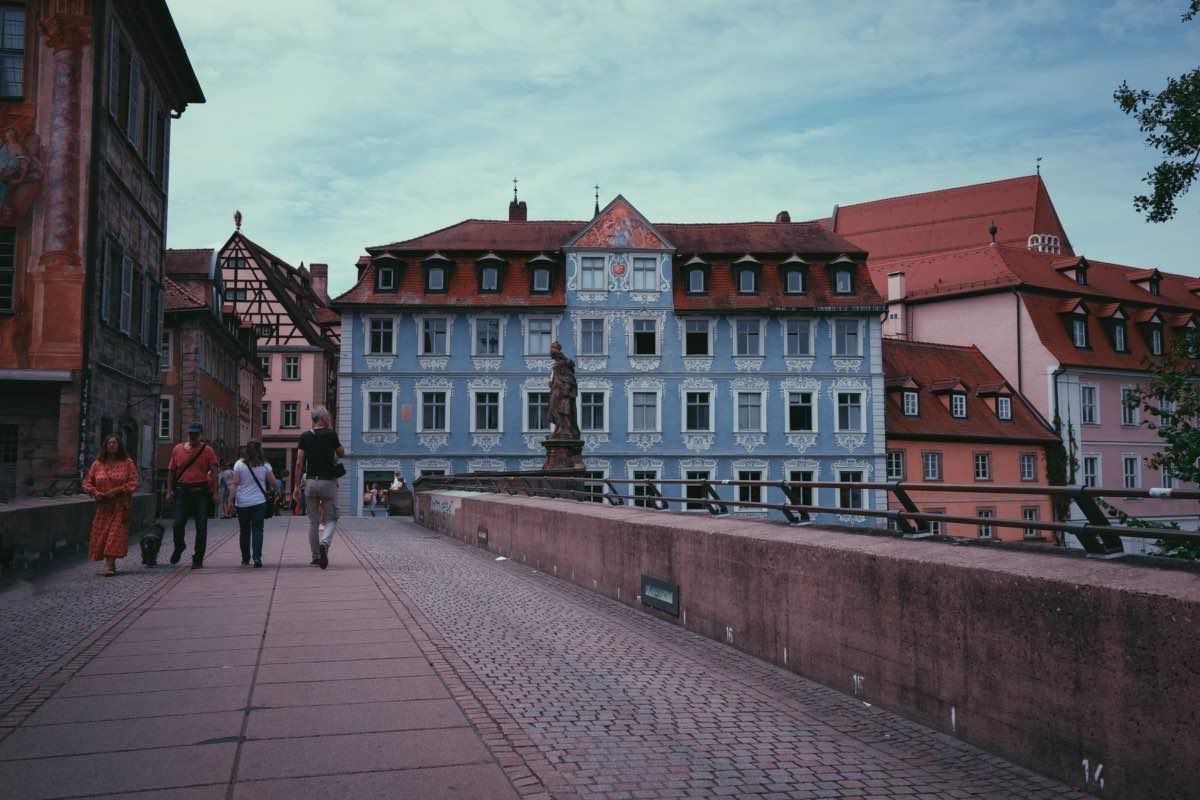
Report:
<svg viewBox="0 0 1200 800"><path fill-rule="evenodd" d="M1200 796L1194 572L466 492L416 519L1088 792Z"/></svg>

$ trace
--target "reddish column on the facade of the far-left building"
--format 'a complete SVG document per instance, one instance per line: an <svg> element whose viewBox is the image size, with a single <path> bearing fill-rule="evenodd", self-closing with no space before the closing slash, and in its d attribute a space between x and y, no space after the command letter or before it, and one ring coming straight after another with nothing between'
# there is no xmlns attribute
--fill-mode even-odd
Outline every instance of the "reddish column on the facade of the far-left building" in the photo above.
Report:
<svg viewBox="0 0 1200 800"><path fill-rule="evenodd" d="M59 13L42 22L42 32L54 54L54 92L50 98L50 143L44 152L41 264L80 266L80 71L83 48L91 41L91 20L84 16Z"/></svg>

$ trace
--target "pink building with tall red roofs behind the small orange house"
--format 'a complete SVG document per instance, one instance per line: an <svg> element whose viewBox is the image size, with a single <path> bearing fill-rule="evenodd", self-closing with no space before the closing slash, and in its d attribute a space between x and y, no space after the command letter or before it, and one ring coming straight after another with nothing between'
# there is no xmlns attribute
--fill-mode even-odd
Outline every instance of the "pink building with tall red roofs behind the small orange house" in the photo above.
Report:
<svg viewBox="0 0 1200 800"><path fill-rule="evenodd" d="M1075 255L1039 176L846 206L836 230L871 251L884 336L978 347L1060 421L1075 483L1175 485L1147 465L1162 443L1121 398L1146 380L1146 356L1195 326L1200 281ZM1114 505L1187 529L1200 522L1193 501Z"/></svg>

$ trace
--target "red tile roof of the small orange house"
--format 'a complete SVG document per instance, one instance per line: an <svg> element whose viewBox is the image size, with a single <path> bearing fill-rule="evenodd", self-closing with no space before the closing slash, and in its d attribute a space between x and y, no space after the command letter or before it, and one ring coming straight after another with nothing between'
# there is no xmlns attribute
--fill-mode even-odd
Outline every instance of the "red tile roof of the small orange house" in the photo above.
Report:
<svg viewBox="0 0 1200 800"><path fill-rule="evenodd" d="M1012 391L1000 371L977 347L930 344L883 339L883 374L889 386L912 378L920 387L917 416L906 416L902 391L888 391L884 422L888 439L964 439L970 441L1055 441L1057 437L1024 397L1013 391L1013 419L1001 420L980 397L1001 386ZM962 381L967 395L967 416L950 416L934 393L935 386Z"/></svg>

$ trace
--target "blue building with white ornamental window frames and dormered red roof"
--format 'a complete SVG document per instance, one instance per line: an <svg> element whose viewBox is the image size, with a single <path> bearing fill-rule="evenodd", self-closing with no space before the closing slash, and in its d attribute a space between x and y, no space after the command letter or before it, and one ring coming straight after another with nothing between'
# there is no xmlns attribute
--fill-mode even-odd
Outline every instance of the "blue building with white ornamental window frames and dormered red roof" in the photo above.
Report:
<svg viewBox="0 0 1200 800"><path fill-rule="evenodd" d="M883 477L882 300L866 253L817 223L653 224L623 197L590 222L539 222L514 199L508 221L367 253L332 302L346 509L395 470L540 469L556 339L596 480ZM850 523L886 507L811 500Z"/></svg>

